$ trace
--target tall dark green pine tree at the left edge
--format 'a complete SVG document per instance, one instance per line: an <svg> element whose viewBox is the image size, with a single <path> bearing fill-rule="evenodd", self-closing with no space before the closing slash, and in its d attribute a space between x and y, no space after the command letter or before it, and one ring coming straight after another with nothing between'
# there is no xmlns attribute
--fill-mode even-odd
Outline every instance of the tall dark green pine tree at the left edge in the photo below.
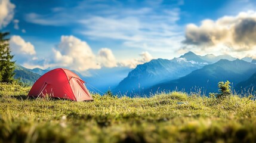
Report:
<svg viewBox="0 0 256 143"><path fill-rule="evenodd" d="M10 33L0 32L0 82L13 82L15 61L11 61L14 55L11 55L9 39L6 38Z"/></svg>

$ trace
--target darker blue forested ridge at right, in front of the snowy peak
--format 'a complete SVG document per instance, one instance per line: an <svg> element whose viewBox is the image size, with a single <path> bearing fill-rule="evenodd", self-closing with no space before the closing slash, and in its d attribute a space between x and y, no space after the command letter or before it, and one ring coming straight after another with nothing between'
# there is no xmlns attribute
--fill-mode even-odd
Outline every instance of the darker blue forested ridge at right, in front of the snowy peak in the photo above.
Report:
<svg viewBox="0 0 256 143"><path fill-rule="evenodd" d="M186 92L201 91L206 95L209 92L218 92L218 82L229 80L233 86L248 79L256 71L256 64L243 60L220 60L217 63L204 66L202 69L192 71L176 80L160 83L147 89L147 92L172 91L174 89Z"/></svg>

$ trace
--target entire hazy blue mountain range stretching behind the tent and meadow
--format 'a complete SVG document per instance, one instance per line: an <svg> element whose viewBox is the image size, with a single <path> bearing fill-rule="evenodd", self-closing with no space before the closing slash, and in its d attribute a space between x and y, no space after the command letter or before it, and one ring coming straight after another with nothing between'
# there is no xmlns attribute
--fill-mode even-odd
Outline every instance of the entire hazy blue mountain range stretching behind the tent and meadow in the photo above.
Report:
<svg viewBox="0 0 256 143"><path fill-rule="evenodd" d="M17 65L14 77L32 85L42 74L50 70L26 69ZM135 69L103 67L88 70L87 76L72 71L87 82L87 88L92 92L103 94L110 89L114 94L128 96L141 91L149 95L150 92L174 89L190 92L195 88L200 88L208 94L218 91L217 83L220 81L230 80L236 90L252 88L256 83L256 62L251 58L239 60L230 55L200 56L193 52L187 52L172 60L151 60L138 65Z"/></svg>

